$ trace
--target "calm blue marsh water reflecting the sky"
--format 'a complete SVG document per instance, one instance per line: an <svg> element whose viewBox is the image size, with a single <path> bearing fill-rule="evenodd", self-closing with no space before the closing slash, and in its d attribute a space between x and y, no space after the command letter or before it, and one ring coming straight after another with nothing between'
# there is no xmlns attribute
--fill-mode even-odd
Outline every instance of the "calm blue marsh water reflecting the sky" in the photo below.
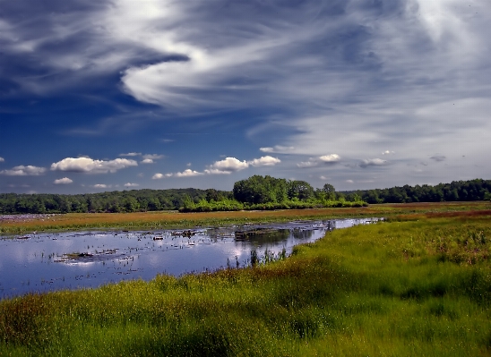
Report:
<svg viewBox="0 0 491 357"><path fill-rule="evenodd" d="M151 280L218 268L243 268L251 251L289 254L335 228L378 218L302 221L185 231L159 230L28 234L0 239L0 298Z"/></svg>

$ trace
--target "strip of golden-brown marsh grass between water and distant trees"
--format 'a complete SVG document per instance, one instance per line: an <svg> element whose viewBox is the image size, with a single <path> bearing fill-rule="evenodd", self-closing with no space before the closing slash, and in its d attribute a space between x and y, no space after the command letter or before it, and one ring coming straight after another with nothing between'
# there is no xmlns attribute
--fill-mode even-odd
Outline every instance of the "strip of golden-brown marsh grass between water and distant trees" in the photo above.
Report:
<svg viewBox="0 0 491 357"><path fill-rule="evenodd" d="M397 217L432 215L491 209L487 201L370 205L362 208L314 208L235 212L178 213L176 211L134 213L69 213L49 218L31 217L14 222L0 221L0 234L29 234L33 231L67 229L183 229L195 226L242 225L245 223L286 222L297 219L349 217Z"/></svg>

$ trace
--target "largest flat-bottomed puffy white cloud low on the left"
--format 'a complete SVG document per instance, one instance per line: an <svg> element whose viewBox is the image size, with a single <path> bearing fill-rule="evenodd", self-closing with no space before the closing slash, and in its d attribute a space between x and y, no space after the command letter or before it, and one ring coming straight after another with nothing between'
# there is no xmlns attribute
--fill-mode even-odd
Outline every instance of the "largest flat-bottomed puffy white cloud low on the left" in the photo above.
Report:
<svg viewBox="0 0 491 357"><path fill-rule="evenodd" d="M66 157L61 161L51 164L53 171L68 171L75 173L107 174L116 173L130 166L138 166L136 161L127 158L114 160L94 160L90 157Z"/></svg>

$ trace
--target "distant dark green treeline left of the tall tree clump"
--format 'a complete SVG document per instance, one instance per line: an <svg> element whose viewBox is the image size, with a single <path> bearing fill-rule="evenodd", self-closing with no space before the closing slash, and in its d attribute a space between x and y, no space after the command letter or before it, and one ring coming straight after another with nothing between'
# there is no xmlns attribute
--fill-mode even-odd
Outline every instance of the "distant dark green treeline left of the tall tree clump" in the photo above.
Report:
<svg viewBox="0 0 491 357"><path fill-rule="evenodd" d="M185 200L222 200L231 192L198 189L62 194L0 193L0 214L138 212L178 209Z"/></svg>

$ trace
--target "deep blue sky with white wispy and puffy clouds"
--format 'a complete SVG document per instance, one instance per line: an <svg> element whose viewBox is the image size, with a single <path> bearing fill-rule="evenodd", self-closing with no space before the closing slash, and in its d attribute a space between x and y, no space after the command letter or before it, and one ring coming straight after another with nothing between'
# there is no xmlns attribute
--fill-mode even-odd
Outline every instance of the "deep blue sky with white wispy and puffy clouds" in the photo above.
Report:
<svg viewBox="0 0 491 357"><path fill-rule="evenodd" d="M491 179L488 0L0 0L0 192Z"/></svg>

